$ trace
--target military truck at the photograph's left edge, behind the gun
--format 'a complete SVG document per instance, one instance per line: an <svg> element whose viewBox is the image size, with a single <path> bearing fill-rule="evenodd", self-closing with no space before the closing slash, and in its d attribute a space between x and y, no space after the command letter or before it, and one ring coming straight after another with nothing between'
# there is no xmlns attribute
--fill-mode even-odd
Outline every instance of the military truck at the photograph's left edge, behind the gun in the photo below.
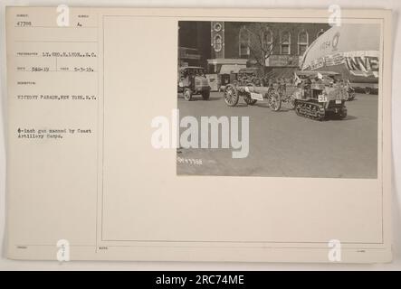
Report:
<svg viewBox="0 0 401 289"><path fill-rule="evenodd" d="M178 70L178 92L182 92L186 100L191 100L194 95L209 99L210 86L205 69L198 66L181 67Z"/></svg>

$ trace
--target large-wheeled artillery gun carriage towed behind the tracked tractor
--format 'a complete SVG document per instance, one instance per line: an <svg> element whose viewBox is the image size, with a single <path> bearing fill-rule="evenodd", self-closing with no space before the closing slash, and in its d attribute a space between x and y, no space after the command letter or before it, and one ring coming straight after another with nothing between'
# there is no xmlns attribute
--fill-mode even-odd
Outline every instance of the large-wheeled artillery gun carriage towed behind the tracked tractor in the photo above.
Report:
<svg viewBox="0 0 401 289"><path fill-rule="evenodd" d="M267 100L267 105L273 111L282 106L280 95L273 85L267 84L263 71L259 68L244 68L238 71L238 77L224 89L224 102L229 107L235 107L240 98L253 106L258 100Z"/></svg>

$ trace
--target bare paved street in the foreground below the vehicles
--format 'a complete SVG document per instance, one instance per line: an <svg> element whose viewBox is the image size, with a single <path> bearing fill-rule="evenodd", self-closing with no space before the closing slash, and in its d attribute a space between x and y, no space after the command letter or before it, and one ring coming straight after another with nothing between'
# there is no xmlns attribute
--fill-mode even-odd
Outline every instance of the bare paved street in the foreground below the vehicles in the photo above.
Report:
<svg viewBox="0 0 401 289"><path fill-rule="evenodd" d="M249 117L249 155L232 158L232 149L180 148L179 175L377 178L377 95L357 94L348 101L348 117L316 121L299 117L285 104L273 112L258 101L227 107L223 92L177 99L180 117ZM241 134L240 134L241 135Z"/></svg>

